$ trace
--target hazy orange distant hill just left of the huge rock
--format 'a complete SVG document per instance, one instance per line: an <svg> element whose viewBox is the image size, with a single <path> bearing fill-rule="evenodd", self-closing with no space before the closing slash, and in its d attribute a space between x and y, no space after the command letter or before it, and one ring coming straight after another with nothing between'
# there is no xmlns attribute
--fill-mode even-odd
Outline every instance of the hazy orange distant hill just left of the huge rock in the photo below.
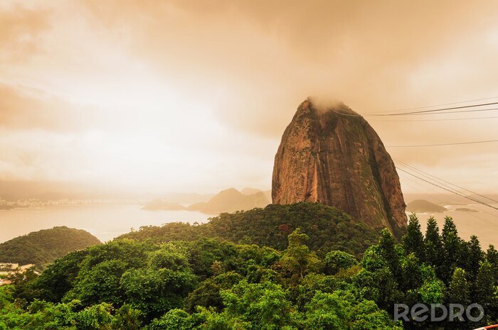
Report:
<svg viewBox="0 0 498 330"><path fill-rule="evenodd" d="M249 210L255 207L266 207L267 204L270 204L270 200L267 199L263 192L243 194L237 189L230 188L218 192L218 194L209 199L205 204L196 203L188 209L208 214L220 214L223 212Z"/></svg>

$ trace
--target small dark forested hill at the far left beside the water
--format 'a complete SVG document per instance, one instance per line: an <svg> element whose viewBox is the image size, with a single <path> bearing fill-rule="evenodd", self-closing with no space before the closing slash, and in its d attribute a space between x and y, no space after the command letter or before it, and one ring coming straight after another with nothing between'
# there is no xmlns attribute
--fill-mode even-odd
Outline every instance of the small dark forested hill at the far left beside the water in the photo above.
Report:
<svg viewBox="0 0 498 330"><path fill-rule="evenodd" d="M34 231L0 244L0 262L26 265L34 263L38 268L63 257L71 251L100 244L92 234L82 229L66 226Z"/></svg>

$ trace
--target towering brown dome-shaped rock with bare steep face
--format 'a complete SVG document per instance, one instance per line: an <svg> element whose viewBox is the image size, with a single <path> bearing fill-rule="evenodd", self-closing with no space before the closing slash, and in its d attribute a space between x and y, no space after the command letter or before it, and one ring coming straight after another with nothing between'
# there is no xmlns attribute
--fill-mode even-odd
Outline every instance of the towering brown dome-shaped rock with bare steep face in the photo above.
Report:
<svg viewBox="0 0 498 330"><path fill-rule="evenodd" d="M369 123L344 104L300 104L275 155L272 200L331 205L396 236L406 228L393 160Z"/></svg>

